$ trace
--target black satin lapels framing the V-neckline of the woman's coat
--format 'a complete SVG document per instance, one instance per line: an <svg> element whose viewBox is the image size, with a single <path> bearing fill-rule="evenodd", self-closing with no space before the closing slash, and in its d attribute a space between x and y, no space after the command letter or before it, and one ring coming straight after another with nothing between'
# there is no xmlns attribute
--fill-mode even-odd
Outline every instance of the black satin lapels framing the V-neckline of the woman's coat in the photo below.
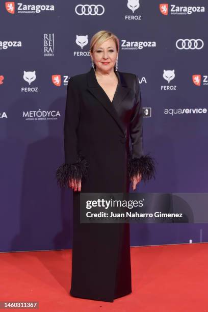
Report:
<svg viewBox="0 0 208 312"><path fill-rule="evenodd" d="M131 90L131 88L127 87L121 72L115 71L115 73L118 77L118 86L113 98L113 102L110 101L106 92L98 84L93 67L91 67L90 71L87 73L87 83L88 83L87 89L98 99L98 101L107 110L107 112L111 115L111 117L114 118L114 120L120 127L121 131L125 135L125 127L116 111L116 108L117 109L119 108L122 100Z"/></svg>

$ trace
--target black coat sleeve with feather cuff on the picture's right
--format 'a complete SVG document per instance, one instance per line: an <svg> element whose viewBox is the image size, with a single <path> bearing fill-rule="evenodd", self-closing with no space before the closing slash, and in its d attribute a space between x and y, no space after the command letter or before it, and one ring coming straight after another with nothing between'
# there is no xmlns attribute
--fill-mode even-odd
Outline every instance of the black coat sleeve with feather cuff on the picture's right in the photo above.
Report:
<svg viewBox="0 0 208 312"><path fill-rule="evenodd" d="M143 109L142 97L138 76L135 75L135 106L132 112L129 134L132 142L132 151L128 158L128 173L130 180L139 173L142 180L146 181L155 178L155 165L153 158L143 151Z"/></svg>

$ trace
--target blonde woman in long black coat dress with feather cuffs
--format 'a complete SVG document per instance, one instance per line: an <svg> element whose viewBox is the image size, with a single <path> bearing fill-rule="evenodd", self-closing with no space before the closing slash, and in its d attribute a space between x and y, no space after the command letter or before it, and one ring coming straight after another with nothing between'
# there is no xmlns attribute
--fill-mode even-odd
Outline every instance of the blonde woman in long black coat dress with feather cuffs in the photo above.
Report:
<svg viewBox="0 0 208 312"><path fill-rule="evenodd" d="M118 51L114 34L96 33L90 71L70 78L65 164L57 169L58 184L74 191L70 294L109 302L132 292L129 224L80 223L80 192L129 192L130 180L135 190L154 177L153 160L143 155L138 77L117 70Z"/></svg>

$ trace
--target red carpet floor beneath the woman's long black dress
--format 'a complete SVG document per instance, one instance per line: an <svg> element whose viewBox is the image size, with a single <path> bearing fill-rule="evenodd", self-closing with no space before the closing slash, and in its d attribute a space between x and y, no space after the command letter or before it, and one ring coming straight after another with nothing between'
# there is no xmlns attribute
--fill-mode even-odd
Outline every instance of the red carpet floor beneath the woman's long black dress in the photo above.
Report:
<svg viewBox="0 0 208 312"><path fill-rule="evenodd" d="M1 253L0 301L39 301L44 312L208 311L207 243L132 247L131 260L133 293L102 302L69 295L71 250Z"/></svg>

